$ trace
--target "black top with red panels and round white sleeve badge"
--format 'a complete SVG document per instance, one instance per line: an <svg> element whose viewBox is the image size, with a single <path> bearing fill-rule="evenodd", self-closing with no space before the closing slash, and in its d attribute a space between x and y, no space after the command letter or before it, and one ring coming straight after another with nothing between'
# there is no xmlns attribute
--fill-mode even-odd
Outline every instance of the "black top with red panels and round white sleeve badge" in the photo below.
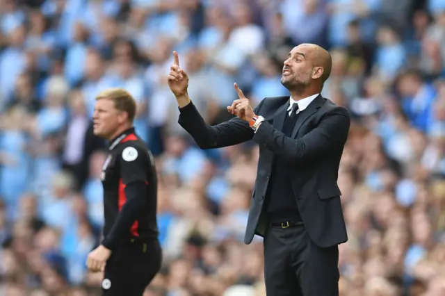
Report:
<svg viewBox="0 0 445 296"><path fill-rule="evenodd" d="M133 128L111 142L102 167L104 187L104 239L108 249L133 239L147 242L158 237L156 223L157 178L151 151Z"/></svg>

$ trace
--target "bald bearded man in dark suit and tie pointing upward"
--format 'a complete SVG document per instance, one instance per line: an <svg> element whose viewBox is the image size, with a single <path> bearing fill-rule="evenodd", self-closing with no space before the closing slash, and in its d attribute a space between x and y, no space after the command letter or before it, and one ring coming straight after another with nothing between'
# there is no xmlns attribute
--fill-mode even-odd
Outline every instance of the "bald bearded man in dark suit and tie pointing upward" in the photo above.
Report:
<svg viewBox="0 0 445 296"><path fill-rule="evenodd" d="M332 60L316 44L294 47L282 85L291 97L267 97L255 108L236 83L232 120L209 126L188 97L188 77L173 52L168 85L179 124L202 149L253 140L260 149L244 242L264 238L267 295L339 295L338 245L348 236L337 177L348 138L348 111L321 96Z"/></svg>

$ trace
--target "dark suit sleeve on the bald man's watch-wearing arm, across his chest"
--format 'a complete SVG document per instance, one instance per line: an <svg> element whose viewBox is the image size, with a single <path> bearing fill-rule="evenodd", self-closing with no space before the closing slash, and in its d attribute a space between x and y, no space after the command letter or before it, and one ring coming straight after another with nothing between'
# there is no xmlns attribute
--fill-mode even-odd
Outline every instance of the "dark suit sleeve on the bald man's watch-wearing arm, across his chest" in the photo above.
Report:
<svg viewBox="0 0 445 296"><path fill-rule="evenodd" d="M290 138L274 129L268 122L262 122L252 140L266 145L274 154L286 158L289 163L312 161L343 149L348 138L350 116L343 108L335 108L324 115L321 122L301 138Z"/></svg>

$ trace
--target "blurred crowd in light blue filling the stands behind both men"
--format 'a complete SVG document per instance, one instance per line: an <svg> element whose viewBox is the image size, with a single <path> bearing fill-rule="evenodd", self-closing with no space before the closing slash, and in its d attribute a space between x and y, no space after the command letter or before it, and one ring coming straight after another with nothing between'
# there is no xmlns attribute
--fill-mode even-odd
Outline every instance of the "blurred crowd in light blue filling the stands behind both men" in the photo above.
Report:
<svg viewBox="0 0 445 296"><path fill-rule="evenodd" d="M445 295L445 0L0 0L0 295L99 295L106 143L95 95L126 88L156 156L161 273L144 296L264 296L243 244L258 149L202 151L177 124L173 49L210 124L236 81L286 95L293 46L330 50L323 95L353 124L339 187L342 296Z"/></svg>

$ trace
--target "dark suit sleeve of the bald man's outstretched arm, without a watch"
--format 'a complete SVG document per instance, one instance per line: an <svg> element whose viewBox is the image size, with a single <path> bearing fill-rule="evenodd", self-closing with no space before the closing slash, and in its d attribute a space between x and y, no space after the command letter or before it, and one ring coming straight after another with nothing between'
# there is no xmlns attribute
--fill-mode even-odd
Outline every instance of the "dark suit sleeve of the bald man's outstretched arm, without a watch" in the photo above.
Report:
<svg viewBox="0 0 445 296"><path fill-rule="evenodd" d="M254 108L258 114L264 99ZM251 140L254 131L248 122L234 117L227 122L210 126L200 115L193 102L179 108L179 124L193 137L201 149L214 149L237 145Z"/></svg>

